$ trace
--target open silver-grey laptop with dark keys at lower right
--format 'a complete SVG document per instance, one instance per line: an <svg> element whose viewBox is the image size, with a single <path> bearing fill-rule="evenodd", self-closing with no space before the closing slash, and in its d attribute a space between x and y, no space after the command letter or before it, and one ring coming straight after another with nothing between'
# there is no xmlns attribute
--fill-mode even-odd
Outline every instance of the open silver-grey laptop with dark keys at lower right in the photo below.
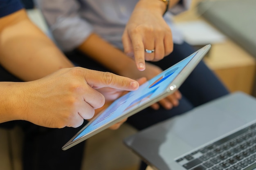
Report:
<svg viewBox="0 0 256 170"><path fill-rule="evenodd" d="M256 99L231 93L124 139L155 170L256 168Z"/></svg>

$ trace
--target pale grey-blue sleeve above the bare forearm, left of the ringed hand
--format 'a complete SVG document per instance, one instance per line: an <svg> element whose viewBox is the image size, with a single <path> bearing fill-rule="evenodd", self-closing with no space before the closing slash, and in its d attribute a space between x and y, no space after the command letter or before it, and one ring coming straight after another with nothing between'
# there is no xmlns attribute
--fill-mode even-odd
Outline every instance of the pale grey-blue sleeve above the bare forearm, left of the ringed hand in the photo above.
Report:
<svg viewBox="0 0 256 170"><path fill-rule="evenodd" d="M60 48L72 51L92 33L92 26L79 16L76 0L38 0L38 7Z"/></svg>

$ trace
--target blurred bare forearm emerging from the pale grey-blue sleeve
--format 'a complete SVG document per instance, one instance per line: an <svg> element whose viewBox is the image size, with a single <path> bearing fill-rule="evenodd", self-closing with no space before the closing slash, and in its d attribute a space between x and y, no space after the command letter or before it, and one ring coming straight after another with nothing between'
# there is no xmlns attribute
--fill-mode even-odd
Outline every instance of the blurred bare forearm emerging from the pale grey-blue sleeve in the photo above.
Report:
<svg viewBox="0 0 256 170"><path fill-rule="evenodd" d="M78 49L117 74L120 74L127 65L135 64L134 60L95 33L92 33Z"/></svg>

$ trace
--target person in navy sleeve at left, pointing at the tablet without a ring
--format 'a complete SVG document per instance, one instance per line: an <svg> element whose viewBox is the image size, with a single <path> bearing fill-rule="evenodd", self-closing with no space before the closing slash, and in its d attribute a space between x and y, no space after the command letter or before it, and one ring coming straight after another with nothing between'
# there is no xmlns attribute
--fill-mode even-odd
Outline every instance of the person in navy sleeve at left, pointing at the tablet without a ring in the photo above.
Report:
<svg viewBox="0 0 256 170"><path fill-rule="evenodd" d="M74 67L19 0L0 0L0 65L0 127L23 129L24 170L79 169L84 144L65 152L63 144L105 101L139 87L127 77Z"/></svg>

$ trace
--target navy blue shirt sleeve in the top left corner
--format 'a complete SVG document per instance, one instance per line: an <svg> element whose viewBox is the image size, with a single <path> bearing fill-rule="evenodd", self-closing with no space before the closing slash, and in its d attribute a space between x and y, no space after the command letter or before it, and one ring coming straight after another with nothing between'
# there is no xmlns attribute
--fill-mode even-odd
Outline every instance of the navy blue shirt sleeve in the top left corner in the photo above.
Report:
<svg viewBox="0 0 256 170"><path fill-rule="evenodd" d="M19 0L0 0L0 18L22 8L23 6Z"/></svg>

